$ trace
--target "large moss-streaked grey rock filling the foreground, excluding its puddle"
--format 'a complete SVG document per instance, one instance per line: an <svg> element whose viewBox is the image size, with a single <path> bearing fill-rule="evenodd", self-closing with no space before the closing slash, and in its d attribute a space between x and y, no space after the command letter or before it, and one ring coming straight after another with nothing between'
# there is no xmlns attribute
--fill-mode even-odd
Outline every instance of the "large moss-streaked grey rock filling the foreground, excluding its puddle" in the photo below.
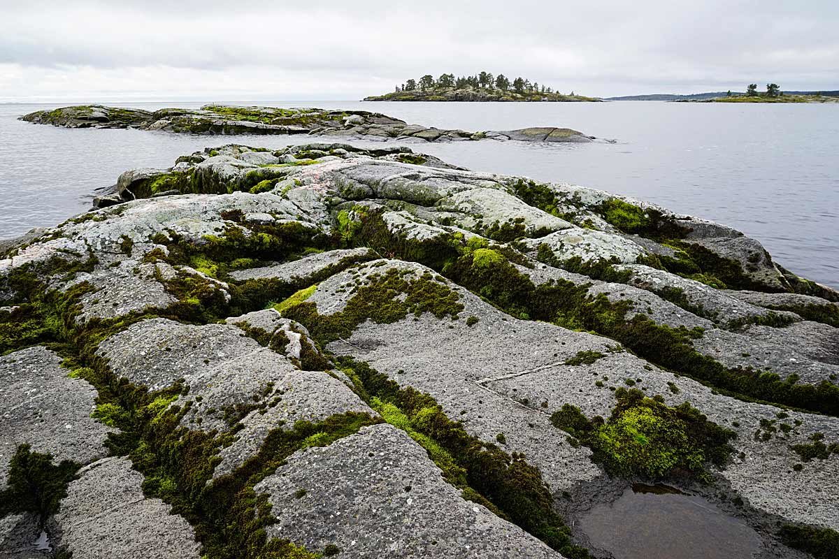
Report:
<svg viewBox="0 0 839 559"><path fill-rule="evenodd" d="M737 230L344 143L100 205L0 246L3 556L607 557L638 482L836 556L839 292Z"/></svg>

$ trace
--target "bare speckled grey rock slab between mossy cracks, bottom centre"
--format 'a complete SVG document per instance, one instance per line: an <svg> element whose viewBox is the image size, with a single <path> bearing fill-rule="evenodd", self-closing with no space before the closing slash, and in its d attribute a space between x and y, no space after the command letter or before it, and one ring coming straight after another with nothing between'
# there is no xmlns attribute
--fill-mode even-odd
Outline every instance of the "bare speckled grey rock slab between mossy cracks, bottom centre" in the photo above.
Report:
<svg viewBox="0 0 839 559"><path fill-rule="evenodd" d="M561 557L461 499L425 450L387 424L295 453L254 489L277 511L268 536L337 546L339 557Z"/></svg>

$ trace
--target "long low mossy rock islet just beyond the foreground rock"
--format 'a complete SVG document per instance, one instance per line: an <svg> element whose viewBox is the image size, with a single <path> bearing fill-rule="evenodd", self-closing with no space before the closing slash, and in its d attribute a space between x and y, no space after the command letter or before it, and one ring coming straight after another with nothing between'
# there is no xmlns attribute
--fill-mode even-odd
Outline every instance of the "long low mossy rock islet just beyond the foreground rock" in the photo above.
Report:
<svg viewBox="0 0 839 559"><path fill-rule="evenodd" d="M408 124L369 111L327 111L315 108L280 109L268 106L206 105L201 109L140 111L113 106L66 106L35 111L21 119L68 128L138 128L189 134L308 134L344 139L414 142L519 140L523 142L591 142L594 138L570 128L524 128L508 132L466 132Z"/></svg>

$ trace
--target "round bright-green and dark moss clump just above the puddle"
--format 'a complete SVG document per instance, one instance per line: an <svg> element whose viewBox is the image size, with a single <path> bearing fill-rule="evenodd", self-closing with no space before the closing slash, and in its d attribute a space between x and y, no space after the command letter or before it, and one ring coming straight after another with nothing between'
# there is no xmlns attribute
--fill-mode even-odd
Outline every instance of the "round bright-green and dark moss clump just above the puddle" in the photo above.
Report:
<svg viewBox="0 0 839 559"><path fill-rule="evenodd" d="M588 420L566 404L551 422L593 451L591 459L609 474L653 479L707 479L706 464L726 465L734 432L709 422L687 402L665 406L642 391L618 389L618 404L607 421Z"/></svg>

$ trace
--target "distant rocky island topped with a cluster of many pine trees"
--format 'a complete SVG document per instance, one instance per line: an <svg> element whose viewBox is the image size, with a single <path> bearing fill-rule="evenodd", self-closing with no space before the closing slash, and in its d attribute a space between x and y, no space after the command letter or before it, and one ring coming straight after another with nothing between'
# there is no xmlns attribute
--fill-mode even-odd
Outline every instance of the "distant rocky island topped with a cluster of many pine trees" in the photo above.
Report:
<svg viewBox="0 0 839 559"><path fill-rule="evenodd" d="M426 74L420 80L407 80L394 91L368 96L362 101L602 101L596 97L554 91L551 87L522 77L510 80L506 75L489 72L455 77L443 74L435 79Z"/></svg>

